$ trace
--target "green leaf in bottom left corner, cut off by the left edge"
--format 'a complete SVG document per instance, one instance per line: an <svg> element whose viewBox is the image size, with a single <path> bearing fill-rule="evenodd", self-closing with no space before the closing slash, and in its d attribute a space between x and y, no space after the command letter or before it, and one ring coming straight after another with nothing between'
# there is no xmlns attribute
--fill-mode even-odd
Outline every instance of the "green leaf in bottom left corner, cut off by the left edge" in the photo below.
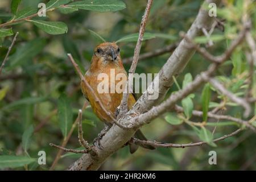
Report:
<svg viewBox="0 0 256 182"><path fill-rule="evenodd" d="M0 155L0 168L22 167L25 164L30 164L35 161L36 159L27 156Z"/></svg>

